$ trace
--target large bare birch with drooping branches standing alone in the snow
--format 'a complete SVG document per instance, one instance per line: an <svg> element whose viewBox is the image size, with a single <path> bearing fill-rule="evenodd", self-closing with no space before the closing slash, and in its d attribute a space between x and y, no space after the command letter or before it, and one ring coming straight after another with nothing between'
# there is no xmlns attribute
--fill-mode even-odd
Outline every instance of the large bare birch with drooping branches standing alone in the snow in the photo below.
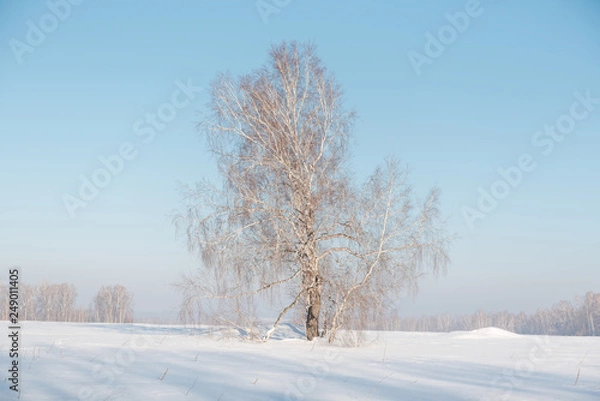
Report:
<svg viewBox="0 0 600 401"><path fill-rule="evenodd" d="M313 46L283 43L253 73L220 75L209 106L199 126L223 184L188 188L175 216L203 261L179 283L184 306L284 289L266 338L302 307L307 339L328 331L333 341L446 266L437 190L417 202L394 160L353 182L355 114Z"/></svg>

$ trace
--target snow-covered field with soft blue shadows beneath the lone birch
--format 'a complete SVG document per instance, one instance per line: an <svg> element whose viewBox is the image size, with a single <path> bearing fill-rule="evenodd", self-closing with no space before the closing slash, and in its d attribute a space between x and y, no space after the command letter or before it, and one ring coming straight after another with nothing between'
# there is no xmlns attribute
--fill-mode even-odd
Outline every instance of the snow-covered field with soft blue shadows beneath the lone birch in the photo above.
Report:
<svg viewBox="0 0 600 401"><path fill-rule="evenodd" d="M214 328L24 322L25 401L600 400L600 337L371 332L358 348ZM6 335L0 340L9 389Z"/></svg>

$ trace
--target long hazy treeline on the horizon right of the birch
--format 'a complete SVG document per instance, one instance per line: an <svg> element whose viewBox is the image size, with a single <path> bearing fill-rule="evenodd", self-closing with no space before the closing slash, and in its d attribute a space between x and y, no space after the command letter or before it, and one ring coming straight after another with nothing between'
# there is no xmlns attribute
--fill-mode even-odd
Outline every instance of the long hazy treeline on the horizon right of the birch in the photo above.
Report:
<svg viewBox="0 0 600 401"><path fill-rule="evenodd" d="M485 312L471 315L443 314L424 317L391 316L378 328L395 331L476 330L498 327L518 334L559 336L600 335L600 293L588 292L575 302L560 301L550 309L538 309L533 314L524 312Z"/></svg>

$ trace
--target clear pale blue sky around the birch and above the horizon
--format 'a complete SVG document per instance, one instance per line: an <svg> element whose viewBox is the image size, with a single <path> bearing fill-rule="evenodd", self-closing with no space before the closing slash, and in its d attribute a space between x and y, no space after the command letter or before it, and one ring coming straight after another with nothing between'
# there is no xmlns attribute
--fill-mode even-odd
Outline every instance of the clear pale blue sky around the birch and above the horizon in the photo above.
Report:
<svg viewBox="0 0 600 401"><path fill-rule="evenodd" d="M84 305L121 283L136 312L174 314L169 284L198 263L170 223L177 182L215 172L199 87L283 39L313 41L345 88L359 177L397 155L419 191L442 189L452 265L401 313L600 291L595 0L3 1L0 279L17 265L25 282L75 284ZM81 199L101 158L115 174Z"/></svg>

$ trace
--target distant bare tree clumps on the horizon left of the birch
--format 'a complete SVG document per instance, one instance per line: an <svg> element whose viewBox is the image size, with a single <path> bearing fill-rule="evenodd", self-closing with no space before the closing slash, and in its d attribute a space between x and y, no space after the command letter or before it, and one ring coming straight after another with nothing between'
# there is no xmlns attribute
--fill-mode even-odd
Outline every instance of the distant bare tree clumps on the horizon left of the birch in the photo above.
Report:
<svg viewBox="0 0 600 401"><path fill-rule="evenodd" d="M19 320L54 322L130 323L133 321L133 294L122 285L102 286L89 308L75 306L73 284L19 284ZM13 310L14 311L14 310ZM0 283L0 319L8 320L9 287Z"/></svg>

